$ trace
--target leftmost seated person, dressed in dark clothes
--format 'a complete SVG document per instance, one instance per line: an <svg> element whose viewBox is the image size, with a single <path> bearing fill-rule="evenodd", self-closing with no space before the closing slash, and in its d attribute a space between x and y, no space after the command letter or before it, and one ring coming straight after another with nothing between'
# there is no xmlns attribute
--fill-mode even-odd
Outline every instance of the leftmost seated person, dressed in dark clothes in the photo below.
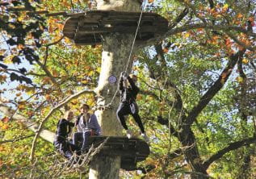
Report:
<svg viewBox="0 0 256 179"><path fill-rule="evenodd" d="M53 142L55 148L67 159L71 159L74 151L78 152L78 147L67 139L71 127L74 126L73 123L69 122L71 119L73 119L73 111L69 110L65 113L65 119L58 121L56 137Z"/></svg>

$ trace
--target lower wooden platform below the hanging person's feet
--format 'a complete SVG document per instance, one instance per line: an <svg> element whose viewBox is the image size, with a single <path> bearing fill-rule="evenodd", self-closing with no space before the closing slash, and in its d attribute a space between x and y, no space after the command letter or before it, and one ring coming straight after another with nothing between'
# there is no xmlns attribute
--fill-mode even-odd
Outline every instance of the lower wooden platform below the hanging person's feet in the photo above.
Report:
<svg viewBox="0 0 256 179"><path fill-rule="evenodd" d="M90 136L89 144L101 144L107 136ZM111 136L99 155L121 156L121 169L135 170L136 163L149 156L149 145L142 139Z"/></svg>

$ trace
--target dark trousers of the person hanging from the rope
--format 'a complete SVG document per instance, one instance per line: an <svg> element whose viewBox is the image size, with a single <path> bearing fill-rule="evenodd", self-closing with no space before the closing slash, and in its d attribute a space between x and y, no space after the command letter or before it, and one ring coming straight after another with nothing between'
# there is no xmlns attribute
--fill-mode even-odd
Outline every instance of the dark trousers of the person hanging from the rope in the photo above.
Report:
<svg viewBox="0 0 256 179"><path fill-rule="evenodd" d="M141 117L139 115L139 109L135 102L132 102L131 104L126 102L121 102L120 106L116 110L116 117L120 121L121 125L124 127L125 130L128 130L128 127L125 123L124 115L131 114L135 122L138 124L138 126L141 129L142 133L145 133L145 129L143 127L143 124L141 122Z"/></svg>

